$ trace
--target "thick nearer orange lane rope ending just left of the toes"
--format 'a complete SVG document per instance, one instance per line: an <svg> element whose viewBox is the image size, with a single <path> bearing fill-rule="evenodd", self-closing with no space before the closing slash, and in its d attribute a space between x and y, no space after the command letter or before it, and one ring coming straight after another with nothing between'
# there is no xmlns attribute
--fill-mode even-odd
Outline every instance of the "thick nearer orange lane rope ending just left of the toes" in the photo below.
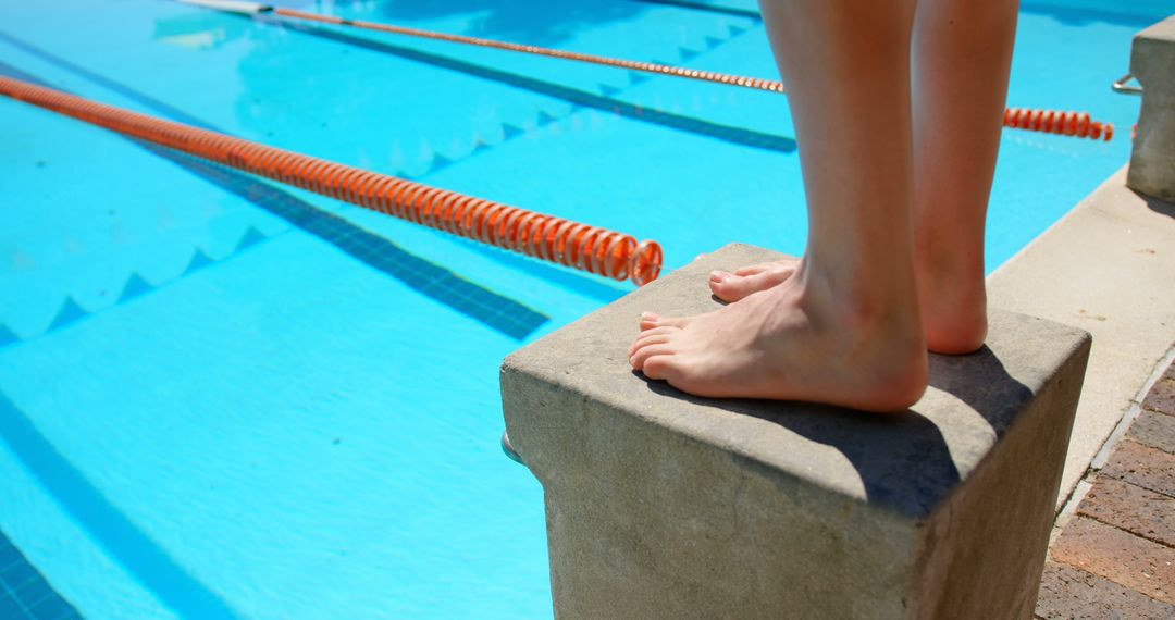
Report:
<svg viewBox="0 0 1175 620"><path fill-rule="evenodd" d="M229 168L365 209L637 285L657 278L662 248L631 235L465 196L155 119L0 76L0 94Z"/></svg>

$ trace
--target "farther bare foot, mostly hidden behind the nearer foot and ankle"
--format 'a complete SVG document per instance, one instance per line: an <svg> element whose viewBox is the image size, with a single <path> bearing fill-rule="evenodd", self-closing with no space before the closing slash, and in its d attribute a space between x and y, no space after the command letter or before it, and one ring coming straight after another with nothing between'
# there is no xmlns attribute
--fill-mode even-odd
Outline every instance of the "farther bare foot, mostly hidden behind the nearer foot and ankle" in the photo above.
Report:
<svg viewBox="0 0 1175 620"><path fill-rule="evenodd" d="M987 294L983 265L952 264L955 255L927 258L918 252L916 272L926 346L936 353L971 353L983 345L987 336ZM748 295L767 290L791 278L799 265L797 258L744 267L733 274L710 274L710 290L719 299L733 303ZM685 319L642 316L640 329L682 325Z"/></svg>

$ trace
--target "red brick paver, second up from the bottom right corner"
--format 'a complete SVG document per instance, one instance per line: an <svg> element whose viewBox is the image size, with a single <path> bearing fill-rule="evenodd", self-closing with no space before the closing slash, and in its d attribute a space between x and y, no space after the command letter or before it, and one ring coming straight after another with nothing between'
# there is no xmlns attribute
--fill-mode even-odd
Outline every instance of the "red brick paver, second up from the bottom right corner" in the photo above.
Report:
<svg viewBox="0 0 1175 620"><path fill-rule="evenodd" d="M1175 605L1175 550L1085 517L1053 544L1053 560Z"/></svg>

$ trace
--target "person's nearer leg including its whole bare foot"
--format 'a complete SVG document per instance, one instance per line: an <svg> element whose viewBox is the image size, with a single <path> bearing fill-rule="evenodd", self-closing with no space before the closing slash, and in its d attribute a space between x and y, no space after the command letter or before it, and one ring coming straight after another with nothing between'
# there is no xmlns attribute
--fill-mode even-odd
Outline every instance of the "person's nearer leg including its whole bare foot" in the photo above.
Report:
<svg viewBox="0 0 1175 620"><path fill-rule="evenodd" d="M912 404L926 388L914 276L913 2L764 0L790 88L810 231L784 285L649 329L633 368L701 396Z"/></svg>

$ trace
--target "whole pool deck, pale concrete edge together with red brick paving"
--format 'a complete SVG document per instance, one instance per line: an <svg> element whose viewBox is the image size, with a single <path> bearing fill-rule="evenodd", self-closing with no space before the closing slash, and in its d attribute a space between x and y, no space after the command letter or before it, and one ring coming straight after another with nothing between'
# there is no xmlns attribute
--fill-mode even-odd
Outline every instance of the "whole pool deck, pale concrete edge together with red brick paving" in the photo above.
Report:
<svg viewBox="0 0 1175 620"><path fill-rule="evenodd" d="M1038 619L1175 616L1175 205L1126 168L988 278L1093 333Z"/></svg>

